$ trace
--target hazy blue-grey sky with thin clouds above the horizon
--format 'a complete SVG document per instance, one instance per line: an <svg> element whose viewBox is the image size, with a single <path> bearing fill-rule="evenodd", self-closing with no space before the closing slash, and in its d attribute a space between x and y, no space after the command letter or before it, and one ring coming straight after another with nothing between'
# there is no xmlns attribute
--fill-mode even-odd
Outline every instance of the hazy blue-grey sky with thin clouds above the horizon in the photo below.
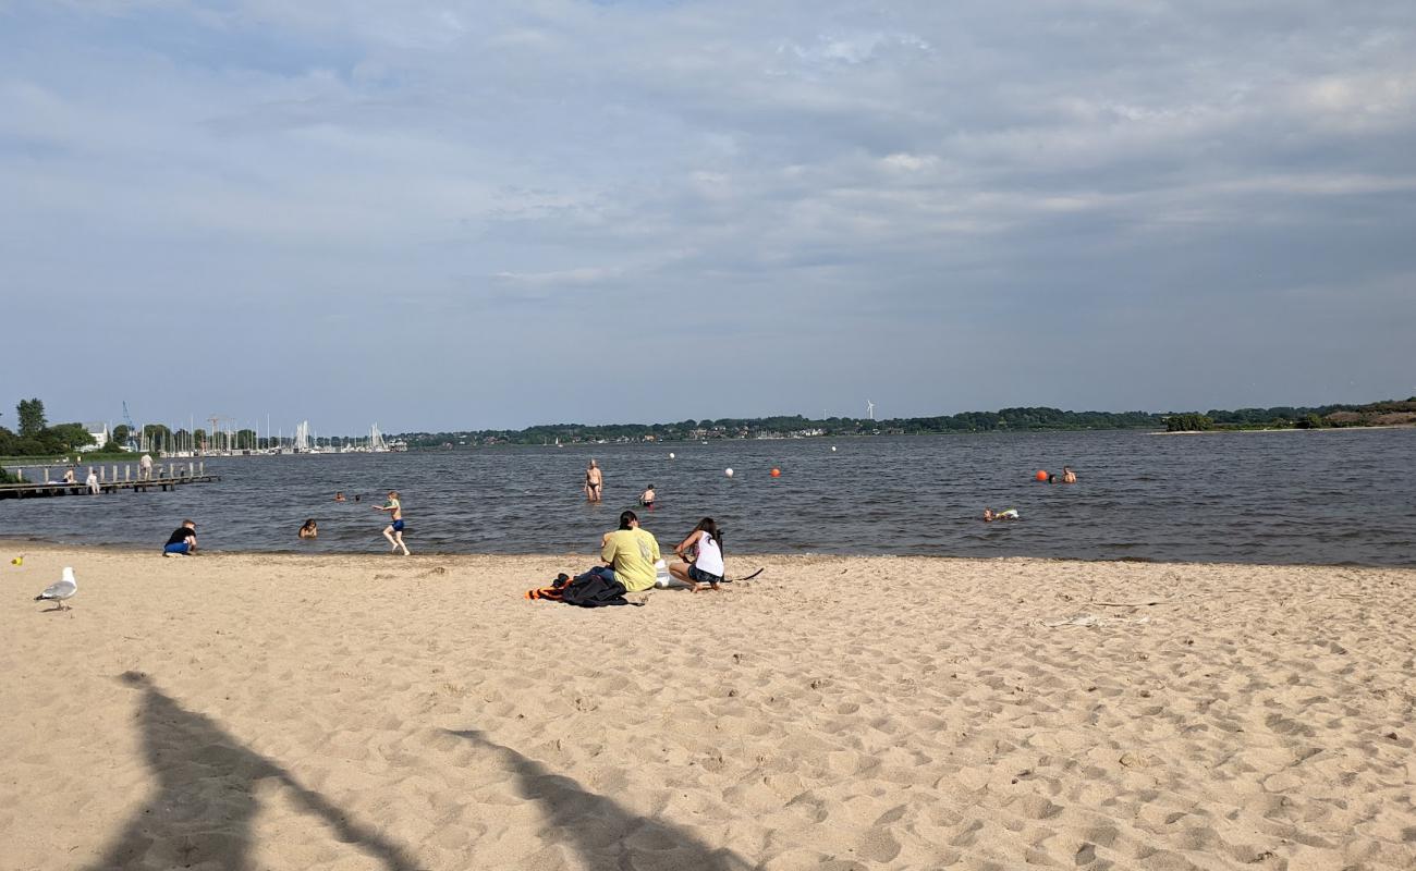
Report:
<svg viewBox="0 0 1416 871"><path fill-rule="evenodd" d="M0 425L1416 394L1403 0L0 0Z"/></svg>

